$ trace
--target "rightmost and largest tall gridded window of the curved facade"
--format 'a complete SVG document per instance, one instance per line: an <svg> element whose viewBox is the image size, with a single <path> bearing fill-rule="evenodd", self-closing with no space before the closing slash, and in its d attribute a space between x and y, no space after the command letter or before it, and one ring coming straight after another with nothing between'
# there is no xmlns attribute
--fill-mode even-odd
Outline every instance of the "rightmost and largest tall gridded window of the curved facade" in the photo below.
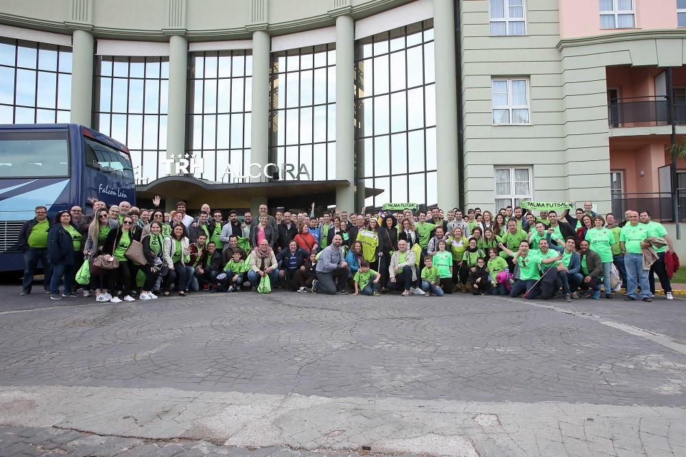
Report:
<svg viewBox="0 0 686 457"><path fill-rule="evenodd" d="M356 179L367 208L436 205L435 81L431 20L355 42Z"/></svg>

